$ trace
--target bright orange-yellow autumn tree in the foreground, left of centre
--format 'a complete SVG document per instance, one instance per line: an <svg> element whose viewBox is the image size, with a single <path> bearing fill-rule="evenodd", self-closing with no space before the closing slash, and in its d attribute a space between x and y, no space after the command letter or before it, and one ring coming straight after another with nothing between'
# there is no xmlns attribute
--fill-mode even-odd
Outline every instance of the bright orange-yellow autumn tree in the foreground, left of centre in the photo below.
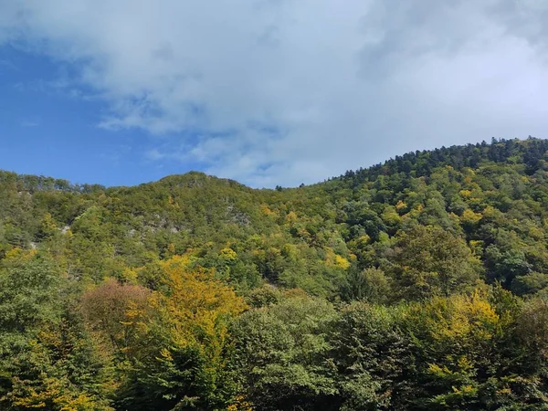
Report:
<svg viewBox="0 0 548 411"><path fill-rule="evenodd" d="M161 263L163 292L149 299L153 309L137 343L146 353L133 357L119 406L146 409L220 409L234 387L227 379L228 321L246 309L213 270L189 269L174 256Z"/></svg>

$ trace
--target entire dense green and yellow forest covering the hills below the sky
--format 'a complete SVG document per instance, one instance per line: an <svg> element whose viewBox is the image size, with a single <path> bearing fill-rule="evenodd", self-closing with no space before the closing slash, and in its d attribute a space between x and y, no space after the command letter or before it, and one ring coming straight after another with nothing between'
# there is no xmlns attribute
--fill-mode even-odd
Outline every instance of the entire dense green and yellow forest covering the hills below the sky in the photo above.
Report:
<svg viewBox="0 0 548 411"><path fill-rule="evenodd" d="M548 410L548 141L320 184L0 172L0 409Z"/></svg>

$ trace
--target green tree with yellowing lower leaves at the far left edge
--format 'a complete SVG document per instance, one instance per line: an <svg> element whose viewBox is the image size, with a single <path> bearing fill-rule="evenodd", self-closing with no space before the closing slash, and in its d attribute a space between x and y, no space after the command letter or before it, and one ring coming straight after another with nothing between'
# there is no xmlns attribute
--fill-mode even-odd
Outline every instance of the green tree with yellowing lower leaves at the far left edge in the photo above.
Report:
<svg viewBox="0 0 548 411"><path fill-rule="evenodd" d="M106 359L54 265L14 250L0 269L0 405L7 410L111 410Z"/></svg>

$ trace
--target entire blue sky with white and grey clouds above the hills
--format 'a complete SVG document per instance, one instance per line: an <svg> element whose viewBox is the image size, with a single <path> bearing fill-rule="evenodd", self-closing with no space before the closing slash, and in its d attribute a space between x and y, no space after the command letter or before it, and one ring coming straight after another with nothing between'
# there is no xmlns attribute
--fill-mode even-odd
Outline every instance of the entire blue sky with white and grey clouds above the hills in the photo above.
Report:
<svg viewBox="0 0 548 411"><path fill-rule="evenodd" d="M311 184L548 137L544 0L2 0L0 169Z"/></svg>

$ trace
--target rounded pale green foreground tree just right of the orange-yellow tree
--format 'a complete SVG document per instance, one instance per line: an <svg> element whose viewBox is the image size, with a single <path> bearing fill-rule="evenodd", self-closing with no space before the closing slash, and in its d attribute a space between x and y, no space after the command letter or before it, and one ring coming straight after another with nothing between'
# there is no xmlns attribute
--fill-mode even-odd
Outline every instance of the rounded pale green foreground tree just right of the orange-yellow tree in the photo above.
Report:
<svg viewBox="0 0 548 411"><path fill-rule="evenodd" d="M303 296L248 311L233 325L235 374L258 409L328 409L335 394L327 361L336 311Z"/></svg>

